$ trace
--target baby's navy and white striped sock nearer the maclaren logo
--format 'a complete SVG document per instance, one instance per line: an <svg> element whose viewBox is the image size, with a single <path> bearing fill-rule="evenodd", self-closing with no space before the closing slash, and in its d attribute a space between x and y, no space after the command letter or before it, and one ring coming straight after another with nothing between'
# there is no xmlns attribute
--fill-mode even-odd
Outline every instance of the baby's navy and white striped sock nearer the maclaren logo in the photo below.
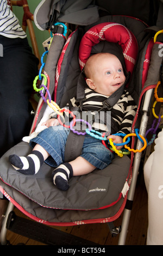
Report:
<svg viewBox="0 0 163 256"><path fill-rule="evenodd" d="M52 172L54 185L56 185L62 191L68 190L68 179L70 179L72 176L73 169L70 163L60 164L60 166Z"/></svg>

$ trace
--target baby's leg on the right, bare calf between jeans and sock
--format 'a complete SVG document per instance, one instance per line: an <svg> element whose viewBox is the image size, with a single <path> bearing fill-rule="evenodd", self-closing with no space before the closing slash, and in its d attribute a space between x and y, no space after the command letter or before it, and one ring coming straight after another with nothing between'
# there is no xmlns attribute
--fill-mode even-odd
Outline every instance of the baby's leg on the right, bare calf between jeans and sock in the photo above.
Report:
<svg viewBox="0 0 163 256"><path fill-rule="evenodd" d="M77 159L61 164L52 172L52 181L60 190L69 188L68 179L72 176L85 175L93 170L104 169L110 163L114 155L110 150L95 138L85 136L82 155Z"/></svg>

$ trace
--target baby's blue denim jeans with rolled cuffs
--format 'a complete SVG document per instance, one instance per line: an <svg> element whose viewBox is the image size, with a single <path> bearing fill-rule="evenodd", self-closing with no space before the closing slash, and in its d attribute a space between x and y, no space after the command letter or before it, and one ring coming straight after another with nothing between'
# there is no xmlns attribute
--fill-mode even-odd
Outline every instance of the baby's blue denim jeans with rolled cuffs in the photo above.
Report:
<svg viewBox="0 0 163 256"><path fill-rule="evenodd" d="M49 166L58 167L64 163L65 145L70 130L63 126L51 126L40 132L37 137L31 139L30 146L41 145L51 156L45 161ZM107 167L114 155L101 142L90 135L85 135L82 156L98 169Z"/></svg>

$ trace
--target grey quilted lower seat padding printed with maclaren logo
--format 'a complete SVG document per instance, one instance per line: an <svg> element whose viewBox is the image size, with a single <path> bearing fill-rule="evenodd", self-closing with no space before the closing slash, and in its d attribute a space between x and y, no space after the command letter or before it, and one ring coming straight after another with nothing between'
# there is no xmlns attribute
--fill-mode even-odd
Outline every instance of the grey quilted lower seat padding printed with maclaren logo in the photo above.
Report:
<svg viewBox="0 0 163 256"><path fill-rule="evenodd" d="M35 203L54 209L93 210L108 208L121 199L130 166L128 156L115 156L109 168L73 176L69 181L70 188L60 191L52 184L53 168L47 164L43 163L36 175L23 175L11 166L9 155L27 155L30 151L32 149L26 142L11 148L0 160L0 176L4 183Z"/></svg>

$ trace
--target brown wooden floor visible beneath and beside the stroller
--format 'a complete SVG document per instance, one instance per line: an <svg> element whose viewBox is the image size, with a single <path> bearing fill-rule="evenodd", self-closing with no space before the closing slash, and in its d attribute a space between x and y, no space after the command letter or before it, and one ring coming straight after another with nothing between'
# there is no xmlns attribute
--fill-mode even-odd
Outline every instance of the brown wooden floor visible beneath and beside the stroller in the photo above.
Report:
<svg viewBox="0 0 163 256"><path fill-rule="evenodd" d="M137 181L126 245L146 245L148 228L147 200L147 191L143 181L143 175L141 174ZM16 215L26 217L17 209L15 209L15 212ZM122 216L114 222L115 226L121 225ZM119 238L119 235L111 237L107 223L54 228L96 242L99 245L117 245ZM11 245L17 245L18 243L24 243L25 245L43 245L43 243L28 239L28 237L17 235L9 230L7 231L7 240L10 241Z"/></svg>

